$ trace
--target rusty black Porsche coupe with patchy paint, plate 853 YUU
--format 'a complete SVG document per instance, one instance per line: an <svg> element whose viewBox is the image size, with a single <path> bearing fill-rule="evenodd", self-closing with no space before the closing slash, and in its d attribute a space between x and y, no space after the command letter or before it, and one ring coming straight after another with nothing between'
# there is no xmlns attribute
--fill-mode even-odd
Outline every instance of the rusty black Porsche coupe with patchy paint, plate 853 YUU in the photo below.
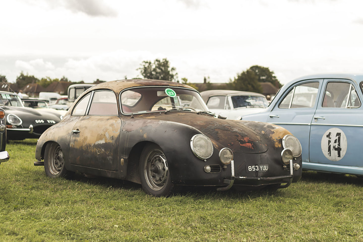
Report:
<svg viewBox="0 0 363 242"><path fill-rule="evenodd" d="M36 159L53 178L113 177L153 196L169 196L175 185L284 188L301 178L301 145L289 131L216 118L192 87L158 80L86 90L41 135Z"/></svg>

